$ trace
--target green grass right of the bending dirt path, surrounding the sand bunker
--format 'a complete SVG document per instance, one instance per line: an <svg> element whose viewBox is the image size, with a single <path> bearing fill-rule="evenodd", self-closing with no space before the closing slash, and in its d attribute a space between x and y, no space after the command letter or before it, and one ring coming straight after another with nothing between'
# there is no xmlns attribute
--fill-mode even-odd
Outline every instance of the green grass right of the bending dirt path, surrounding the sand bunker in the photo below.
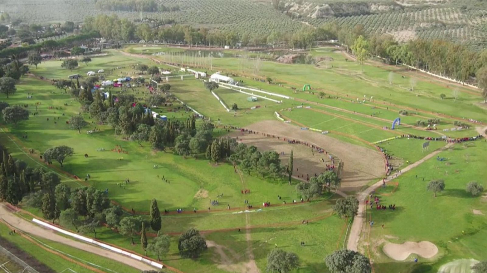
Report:
<svg viewBox="0 0 487 273"><path fill-rule="evenodd" d="M396 204L396 210L372 209L372 220L376 226L371 230L370 242L376 248L374 253L382 253L381 239L384 238L391 238L386 240L397 243L431 241L439 248L439 254L432 259L419 257L424 264L415 268L422 268L421 272L428 273L436 273L441 265L455 259L485 260L487 244L481 238L487 236L487 220L485 215L473 213L474 209L487 211L485 197L472 197L465 188L471 181L487 187L486 153L485 140L455 144L438 155L448 158L447 161L431 158L413 171L394 179L399 186L392 194L392 186L377 190L381 204ZM437 197L426 190L432 179L445 181L445 190ZM385 224L384 229L380 228L382 224ZM415 255L404 262L394 263L403 270L411 266L413 257ZM375 255L375 258L379 264L380 261L391 262L384 255ZM382 267L376 270L379 268Z"/></svg>

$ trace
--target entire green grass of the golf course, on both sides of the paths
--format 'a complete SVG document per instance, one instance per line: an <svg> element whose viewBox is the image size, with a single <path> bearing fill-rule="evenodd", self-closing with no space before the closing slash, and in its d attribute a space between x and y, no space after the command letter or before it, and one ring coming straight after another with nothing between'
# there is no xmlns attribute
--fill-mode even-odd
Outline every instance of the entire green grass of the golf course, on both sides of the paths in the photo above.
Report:
<svg viewBox="0 0 487 273"><path fill-rule="evenodd" d="M182 51L179 48L140 46L131 46L125 50L130 53L144 54ZM79 68L73 71L60 68L59 61L48 61L40 64L37 69L31 68L31 70L37 76L57 79L74 73L85 75L90 70L105 69L107 78L116 78L138 73L132 68L136 64L153 64L150 60L137 56L122 55L117 51L108 52L110 53L108 56L95 57L88 66L81 63ZM239 54L233 51L225 53ZM318 66L284 65L262 61L258 76L261 78L269 76L275 83L283 86L269 85L251 79L248 74L244 74L245 77L242 75L234 77L236 80L243 80L244 86L262 88L262 90L291 97L289 100L284 99L282 103L263 99L248 102L249 95L220 87L214 92L225 104L231 107L233 103L237 103L239 106L237 111L227 112L205 88L203 82L197 79L181 81L179 78L171 78L169 79L170 92L216 124L247 126L257 121L276 119L274 112L277 111L295 121L296 125L299 123L307 127L329 130L331 131L329 136L371 149L373 147L368 142L399 134L439 137L443 129L454 127L453 121L457 118L487 120L487 110L474 104L480 98L476 91L460 88L460 96L456 102L450 99L441 100L439 94L451 93L451 88L434 81L418 79L415 91L409 91L407 88L410 74L407 71L391 68L395 71L395 75L393 85L389 85L389 71L386 69L365 65L362 74L355 62L346 61L341 53L334 52L333 49L320 48L311 51L311 54L314 57L333 58L329 62L329 66L333 65L333 68L324 68L322 63ZM213 66L215 70L241 74L239 69L242 63L234 57L214 58ZM179 73L176 68L164 65L160 67L170 69L175 74ZM112 74L109 74L110 71ZM401 77L403 74L406 75L405 78ZM149 75L145 77L149 78ZM311 84L313 89L309 92L299 91L302 85L307 83ZM289 87L296 87L297 91ZM320 91L325 92L323 98L318 97ZM141 102L148 95L144 87L133 88L128 92L140 98L138 101ZM27 93L32 93L34 97L27 99ZM356 99L359 98L361 101L364 95L369 101L357 102ZM371 96L374 97L372 100L370 100ZM171 214L163 217L162 231L171 234L171 248L169 254L164 257L164 262L184 272L239 271L249 260L247 253L249 250L252 251L259 269L263 271L266 266L266 255L276 247L276 244L277 247L296 252L300 256L301 268L298 272L327 272L323 262L324 257L346 244L344 235L346 222L336 215L331 215L332 205L337 200L337 195L324 194L311 203L271 206L260 212L234 213L238 210L226 210L226 206L229 205L232 209L244 208L244 199L249 200L252 205L259 206L266 201L272 204L282 203L283 200L292 203L292 200L297 199L295 190L297 181L293 180L292 185L288 185L280 180L262 179L255 174L244 173L240 177L233 166L227 163L214 165L203 158L183 158L174 155L171 149L167 149L166 152L155 152L150 149L148 143L139 146L133 141L122 139L121 136L114 136L113 129L108 125L96 125L101 129L100 132L86 134L87 130L95 126L92 123L94 120L87 114L84 117L92 124L78 134L77 131L70 129L65 121L81 111L79 103L50 83L33 77L23 77L17 85L17 92L8 99L1 94L1 100L10 104L28 103L31 111L34 110L35 102L41 102L37 107L37 111L40 112L38 116L31 115L29 120L20 122L17 127L2 124L0 134L2 145L5 145L14 157L27 162L30 166L42 166L56 171L62 181L72 187L80 187L82 183L69 174L85 177L89 173L90 186L102 190L108 189L111 200L129 210L133 208L138 212L148 212L152 198L157 199L161 210L183 208L185 211L191 211L196 208L198 211L207 211L210 206L212 213ZM250 109L257 105L260 107ZM298 105L311 106L311 108L295 108ZM48 109L49 106L54 106L54 109ZM157 112L168 116L169 119L186 120L190 113L172 111L177 106L180 104L160 107ZM293 109L287 111L288 108ZM398 112L402 109L408 109L410 112L408 116L401 116L403 124L414 125L418 119L440 117L441 122L437 125L439 129L431 132L404 125L394 131L383 129L391 126L393 119L399 117ZM56 119L57 123L54 123L54 117L59 117ZM21 137L25 134L28 138ZM223 132L215 129L214 134L219 136ZM445 132L445 135L473 136L476 132L471 128L459 132ZM402 168L446 144L443 141L431 141L429 151L422 152L423 142L424 140L400 138L380 143L379 146L393 155L396 160L394 164ZM47 167L39 160L38 153L58 145L73 147L75 154L64 162L63 168L60 168L57 163L54 163L54 168ZM128 154L112 152L115 145L120 145L123 150L128 151ZM35 149L37 154L25 152L30 148ZM105 151L98 152L97 148L105 148ZM473 215L472 209L487 213L487 207L485 202L481 201L481 197L472 198L465 193L465 185L471 180L483 183L484 187L487 187L485 184L487 173L482 166L485 162L482 159L485 158L486 149L485 140L455 144L452 149L440 153L440 156L448 157L448 161L440 162L432 158L397 179L399 186L394 189L393 194L381 198L386 204L395 203L399 209L394 212L372 212L376 226L385 223L387 228L384 230L374 228L371 232L371 242L378 242L385 235L397 238L391 239L393 242L425 239L435 243L440 253L431 260L420 260L418 265L411 265L407 262L393 261L382 253L380 245L372 244L375 272L435 273L442 264L453 259L486 258L481 251L485 245L480 238L486 235L481 230L485 230L487 222L485 216ZM85 158L83 154L89 154L89 157ZM123 157L123 160L117 160L119 157ZM154 165L158 165L158 168L154 169ZM170 183L164 182L163 176ZM425 182L422 181L423 177ZM117 185L126 178L130 179L130 184ZM426 183L430 179L439 178L445 179L447 189L433 198L432 193L426 191ZM243 195L241 193L243 188L252 189L252 193ZM392 185L388 186L383 189L383 192L379 190L379 194L388 194L393 188ZM215 200L217 195L222 193L223 197L218 198L219 206L209 205L210 200ZM282 199L278 200L277 195L281 195ZM41 216L38 209L26 209ZM316 221L304 225L300 223L303 219ZM431 228L432 226L436 228ZM206 239L217 245L210 247L196 260L181 259L177 250L177 235L190 227L205 231ZM245 234L245 227L250 228L250 239ZM239 228L241 232L238 232ZM466 231L466 236L459 237L462 230ZM143 254L138 238L134 238L136 244L132 245L130 238L105 227L98 229L97 237ZM300 246L301 240L305 241L306 246ZM221 255L221 251L226 254L226 258ZM149 256L154 257L151 253ZM44 259L49 258L39 257L39 260ZM235 267L229 267L229 264Z"/></svg>

